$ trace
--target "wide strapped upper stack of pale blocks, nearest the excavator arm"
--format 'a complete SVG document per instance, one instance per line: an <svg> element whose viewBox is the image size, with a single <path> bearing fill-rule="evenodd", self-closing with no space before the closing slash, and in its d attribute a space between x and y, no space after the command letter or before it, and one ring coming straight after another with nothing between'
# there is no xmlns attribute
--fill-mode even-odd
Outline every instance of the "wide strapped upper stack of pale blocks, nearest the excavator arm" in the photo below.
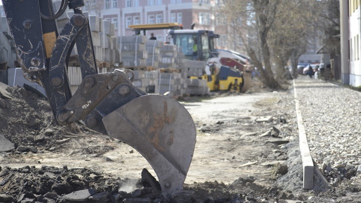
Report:
<svg viewBox="0 0 361 203"><path fill-rule="evenodd" d="M121 61L124 68L145 67L147 59L147 51L145 36L120 36L118 37Z"/></svg>

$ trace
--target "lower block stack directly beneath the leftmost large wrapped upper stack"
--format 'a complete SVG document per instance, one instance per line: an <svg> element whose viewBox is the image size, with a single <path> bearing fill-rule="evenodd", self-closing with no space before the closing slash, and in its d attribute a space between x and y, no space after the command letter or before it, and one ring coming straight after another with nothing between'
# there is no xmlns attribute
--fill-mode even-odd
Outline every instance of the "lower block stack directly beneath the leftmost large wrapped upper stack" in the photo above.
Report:
<svg viewBox="0 0 361 203"><path fill-rule="evenodd" d="M147 93L159 93L159 71L135 70L133 85Z"/></svg>

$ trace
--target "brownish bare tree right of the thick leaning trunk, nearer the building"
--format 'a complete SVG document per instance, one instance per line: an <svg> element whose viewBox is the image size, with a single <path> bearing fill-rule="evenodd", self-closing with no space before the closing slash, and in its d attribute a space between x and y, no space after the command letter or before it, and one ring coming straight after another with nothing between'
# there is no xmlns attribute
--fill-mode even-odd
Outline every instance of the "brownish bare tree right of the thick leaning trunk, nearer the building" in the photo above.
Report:
<svg viewBox="0 0 361 203"><path fill-rule="evenodd" d="M309 9L313 1L281 0L280 12L270 31L270 47L276 64L276 79L282 80L288 74L287 62L292 64L292 77L297 77L298 58L306 52L312 30L314 13Z"/></svg>

